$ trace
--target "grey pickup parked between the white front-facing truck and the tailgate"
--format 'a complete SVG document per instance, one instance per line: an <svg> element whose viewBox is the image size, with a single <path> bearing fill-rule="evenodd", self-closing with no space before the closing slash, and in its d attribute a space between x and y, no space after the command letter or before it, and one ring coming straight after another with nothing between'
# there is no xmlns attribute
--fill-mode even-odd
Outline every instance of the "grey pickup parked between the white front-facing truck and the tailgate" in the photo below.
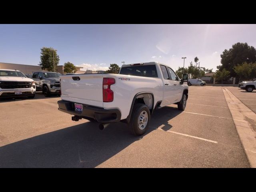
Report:
<svg viewBox="0 0 256 192"><path fill-rule="evenodd" d="M60 94L60 73L34 72L32 79L36 83L36 91L42 91L44 96Z"/></svg>

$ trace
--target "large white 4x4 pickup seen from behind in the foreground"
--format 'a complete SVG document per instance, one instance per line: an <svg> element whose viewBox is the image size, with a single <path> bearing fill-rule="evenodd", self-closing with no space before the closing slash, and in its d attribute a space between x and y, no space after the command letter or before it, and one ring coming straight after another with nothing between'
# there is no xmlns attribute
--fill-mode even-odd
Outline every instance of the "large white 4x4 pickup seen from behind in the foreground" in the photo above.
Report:
<svg viewBox="0 0 256 192"><path fill-rule="evenodd" d="M188 98L187 74L181 80L169 66L156 62L126 64L119 74L63 75L60 79L58 109L74 115L74 121L99 122L101 130L121 121L133 134L142 135L154 110L170 104L184 110Z"/></svg>

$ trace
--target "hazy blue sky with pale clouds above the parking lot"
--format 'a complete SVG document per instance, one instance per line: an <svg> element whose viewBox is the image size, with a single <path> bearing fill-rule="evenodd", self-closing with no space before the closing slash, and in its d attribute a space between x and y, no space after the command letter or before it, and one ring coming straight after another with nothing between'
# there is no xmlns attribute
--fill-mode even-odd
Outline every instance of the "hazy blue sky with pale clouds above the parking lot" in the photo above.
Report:
<svg viewBox="0 0 256 192"><path fill-rule="evenodd" d="M0 24L0 62L38 65L40 48L52 47L59 65L84 70L110 64L160 62L185 67L220 65L220 54L237 42L256 47L256 24Z"/></svg>

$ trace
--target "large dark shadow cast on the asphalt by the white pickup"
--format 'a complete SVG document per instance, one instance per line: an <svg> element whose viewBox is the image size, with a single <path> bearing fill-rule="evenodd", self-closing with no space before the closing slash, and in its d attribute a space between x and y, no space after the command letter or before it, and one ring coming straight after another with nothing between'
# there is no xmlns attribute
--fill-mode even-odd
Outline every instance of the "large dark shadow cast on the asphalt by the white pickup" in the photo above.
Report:
<svg viewBox="0 0 256 192"><path fill-rule="evenodd" d="M169 130L168 120L180 113L173 107L154 111L144 136L162 124ZM94 168L144 136L130 134L124 123L101 131L97 123L86 122L0 147L0 167Z"/></svg>

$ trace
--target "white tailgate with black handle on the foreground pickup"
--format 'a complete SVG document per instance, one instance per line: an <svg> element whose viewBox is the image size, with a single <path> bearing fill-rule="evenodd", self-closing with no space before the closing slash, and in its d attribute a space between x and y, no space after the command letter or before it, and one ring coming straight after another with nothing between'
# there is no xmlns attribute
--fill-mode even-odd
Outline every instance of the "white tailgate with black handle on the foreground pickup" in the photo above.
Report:
<svg viewBox="0 0 256 192"><path fill-rule="evenodd" d="M61 99L103 107L102 74L62 75Z"/></svg>

